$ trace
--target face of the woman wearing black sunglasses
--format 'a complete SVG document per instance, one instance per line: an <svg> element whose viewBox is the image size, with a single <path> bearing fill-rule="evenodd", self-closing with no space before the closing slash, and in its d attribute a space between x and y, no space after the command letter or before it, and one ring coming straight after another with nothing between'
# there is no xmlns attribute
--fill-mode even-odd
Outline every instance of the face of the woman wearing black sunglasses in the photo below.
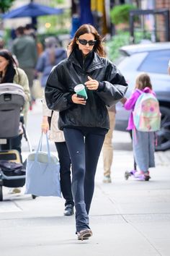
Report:
<svg viewBox="0 0 170 256"><path fill-rule="evenodd" d="M84 56L86 56L94 48L94 44L96 42L94 40L94 35L93 34L86 33L84 35L80 35L79 38L77 38L76 43L79 46L79 50L82 51L82 54Z"/></svg>

